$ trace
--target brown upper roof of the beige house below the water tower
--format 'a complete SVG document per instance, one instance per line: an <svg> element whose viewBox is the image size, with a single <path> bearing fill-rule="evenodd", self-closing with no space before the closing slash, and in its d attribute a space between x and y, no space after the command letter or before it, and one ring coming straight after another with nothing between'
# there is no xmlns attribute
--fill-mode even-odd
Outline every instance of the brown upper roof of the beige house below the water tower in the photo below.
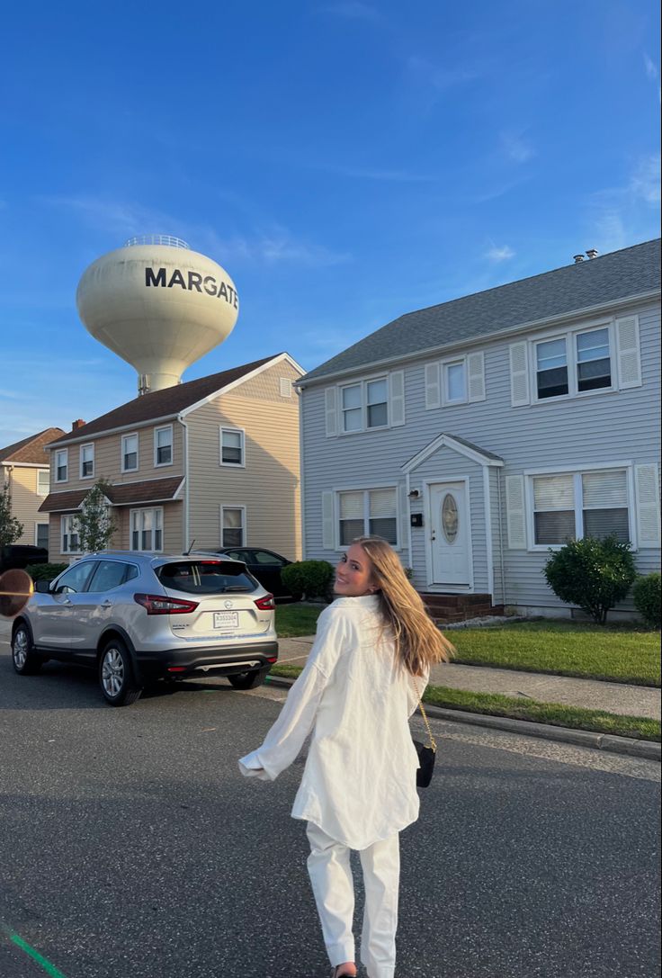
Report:
<svg viewBox="0 0 662 978"><path fill-rule="evenodd" d="M254 360L252 363L243 364L241 367L233 367L231 370L222 371L220 374L210 374L208 377L187 380L186 383L177 383L173 387L164 387L162 390L153 390L149 394L142 394L126 404L121 404L118 408L113 408L107 414L67 432L64 438L58 439L57 443L58 445L65 445L69 441L81 441L90 435L101 434L104 431L173 418L187 408L204 401L212 394L218 393L224 387L246 379L266 364L286 356L286 353L278 353L271 357L264 357L263 360Z"/></svg>

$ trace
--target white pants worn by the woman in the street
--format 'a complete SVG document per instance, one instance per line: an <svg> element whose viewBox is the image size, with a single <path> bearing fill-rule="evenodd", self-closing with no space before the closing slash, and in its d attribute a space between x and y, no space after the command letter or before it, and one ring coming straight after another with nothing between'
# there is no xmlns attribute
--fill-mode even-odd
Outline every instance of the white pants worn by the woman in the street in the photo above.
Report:
<svg viewBox="0 0 662 978"><path fill-rule="evenodd" d="M331 839L313 822L307 823L306 834L310 842L308 872L331 965L353 961L354 883L349 865L350 850ZM361 960L370 978L393 978L395 974L399 842L396 832L359 852L366 890Z"/></svg>

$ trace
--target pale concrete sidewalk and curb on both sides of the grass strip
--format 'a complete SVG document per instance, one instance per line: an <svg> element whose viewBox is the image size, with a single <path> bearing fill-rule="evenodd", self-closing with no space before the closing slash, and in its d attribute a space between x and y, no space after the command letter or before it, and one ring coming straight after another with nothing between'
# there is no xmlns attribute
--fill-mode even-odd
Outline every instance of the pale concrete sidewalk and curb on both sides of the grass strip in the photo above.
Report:
<svg viewBox="0 0 662 978"><path fill-rule="evenodd" d="M303 666L308 658L314 638L310 635L296 639L279 639L279 664L289 663ZM283 682L284 685L290 685L290 681L282 680L280 677L274 677L272 682ZM463 666L455 663L443 663L434 666L430 683L433 686L446 686L451 689L466 689L473 692L500 692L507 696L521 696L544 703L582 706L589 710L604 710L607 713L618 713L624 716L649 717L653 720L660 720L662 714L662 692L660 689L627 686L623 683L602 683L597 680L574 679L568 676L548 676L543 673L492 669L484 666ZM490 717L433 706L426 706L425 709L430 716L456 723L473 723L482 727L580 743L602 750L636 754L655 760L659 760L661 755L660 744L650 741L568 730L547 724L508 720L505 717Z"/></svg>

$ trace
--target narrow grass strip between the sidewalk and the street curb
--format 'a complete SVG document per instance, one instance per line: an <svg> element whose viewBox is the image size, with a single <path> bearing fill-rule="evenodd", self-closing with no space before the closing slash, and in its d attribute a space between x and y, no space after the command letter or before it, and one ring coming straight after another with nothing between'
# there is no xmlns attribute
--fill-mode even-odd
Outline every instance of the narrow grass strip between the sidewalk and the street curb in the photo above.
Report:
<svg viewBox="0 0 662 978"><path fill-rule="evenodd" d="M300 666L277 665L272 669L275 676L296 679ZM484 713L490 716L508 717L511 720L528 720L532 723L551 724L552 727L569 727L592 733L610 733L640 740L660 742L661 728L657 720L646 717L626 717L587 710L560 703L540 703L535 699L518 699L501 693L467 692L444 686L430 686L425 690L424 703L441 706L447 710L463 710L467 713Z"/></svg>

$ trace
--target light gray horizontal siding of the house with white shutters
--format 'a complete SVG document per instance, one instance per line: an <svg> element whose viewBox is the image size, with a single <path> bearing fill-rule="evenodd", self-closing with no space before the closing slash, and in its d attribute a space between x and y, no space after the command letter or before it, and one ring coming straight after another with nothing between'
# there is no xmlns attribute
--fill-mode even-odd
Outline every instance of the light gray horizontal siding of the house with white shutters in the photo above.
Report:
<svg viewBox="0 0 662 978"><path fill-rule="evenodd" d="M511 406L510 344L526 338L552 338L555 334L590 329L610 323L619 313L599 319L576 316L555 330L499 337L467 346L484 354L485 399L426 410L425 364L412 358L398 365L405 378L405 423L391 428L327 437L325 389L331 379L320 378L302 391L301 419L304 452L304 554L334 562L338 552L323 546L323 493L353 486L398 483L401 498L406 476L402 467L442 432L462 438L484 453L504 460L499 471L483 467L444 446L410 474L410 485L419 499L406 508L401 503L401 558L409 562L409 511L424 511L423 483L442 481L448 473L467 477L470 486L473 590L490 590L495 601L529 608L566 609L555 599L543 576L546 551L508 548L506 479L536 469L586 469L592 466L637 467L660 459L660 310L652 300L627 315L637 315L640 335L641 384L627 389L596 391L576 397ZM457 353L458 351L454 351ZM611 350L612 364L614 350ZM374 373L366 370L365 374ZM355 375L352 379L359 378ZM349 382L346 380L345 382ZM450 477L450 476L449 476ZM486 523L484 478L489 483L489 515ZM634 500L630 500L631 507ZM423 517L424 518L424 517ZM486 536L490 528L490 550ZM414 582L424 586L426 528L411 528ZM659 568L659 547L642 547L636 553L640 573ZM491 588L488 586L491 584ZM630 602L623 605L631 607Z"/></svg>

